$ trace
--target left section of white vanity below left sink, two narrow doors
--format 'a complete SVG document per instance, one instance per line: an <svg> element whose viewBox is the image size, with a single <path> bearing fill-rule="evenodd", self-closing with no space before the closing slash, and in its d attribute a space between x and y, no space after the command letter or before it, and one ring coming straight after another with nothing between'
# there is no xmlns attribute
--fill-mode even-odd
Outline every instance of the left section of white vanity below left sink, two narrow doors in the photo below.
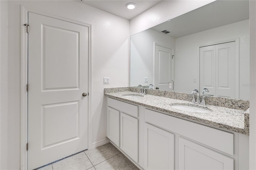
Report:
<svg viewBox="0 0 256 170"><path fill-rule="evenodd" d="M138 162L138 106L108 98L107 137Z"/></svg>

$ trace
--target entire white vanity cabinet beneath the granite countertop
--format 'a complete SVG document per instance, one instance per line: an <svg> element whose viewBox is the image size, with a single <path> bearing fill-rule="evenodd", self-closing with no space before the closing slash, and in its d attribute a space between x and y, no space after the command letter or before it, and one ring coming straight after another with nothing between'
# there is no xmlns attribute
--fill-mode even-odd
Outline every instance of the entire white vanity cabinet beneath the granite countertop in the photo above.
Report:
<svg viewBox="0 0 256 170"><path fill-rule="evenodd" d="M140 169L245 170L249 136L108 97L107 136Z"/></svg>

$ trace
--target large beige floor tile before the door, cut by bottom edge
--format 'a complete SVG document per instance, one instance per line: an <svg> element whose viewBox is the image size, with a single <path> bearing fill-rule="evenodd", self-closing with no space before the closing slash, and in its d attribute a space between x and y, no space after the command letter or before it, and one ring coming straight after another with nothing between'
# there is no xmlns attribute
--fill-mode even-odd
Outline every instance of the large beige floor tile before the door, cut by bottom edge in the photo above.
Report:
<svg viewBox="0 0 256 170"><path fill-rule="evenodd" d="M52 164L53 170L87 170L93 167L84 152Z"/></svg>

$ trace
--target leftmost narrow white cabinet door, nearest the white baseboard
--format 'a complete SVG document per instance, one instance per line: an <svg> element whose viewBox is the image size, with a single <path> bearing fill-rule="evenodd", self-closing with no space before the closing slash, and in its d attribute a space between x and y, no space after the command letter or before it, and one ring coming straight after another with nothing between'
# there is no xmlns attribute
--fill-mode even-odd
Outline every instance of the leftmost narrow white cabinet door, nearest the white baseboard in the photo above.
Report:
<svg viewBox="0 0 256 170"><path fill-rule="evenodd" d="M107 113L107 137L114 142L118 147L119 144L119 116L120 112L112 109L111 107L108 107L108 113Z"/></svg>

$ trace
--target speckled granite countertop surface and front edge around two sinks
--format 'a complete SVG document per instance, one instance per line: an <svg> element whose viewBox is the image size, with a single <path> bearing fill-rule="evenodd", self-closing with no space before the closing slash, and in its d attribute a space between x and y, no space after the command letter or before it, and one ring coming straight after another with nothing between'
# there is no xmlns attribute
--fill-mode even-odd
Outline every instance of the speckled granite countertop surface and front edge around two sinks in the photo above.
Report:
<svg viewBox="0 0 256 170"><path fill-rule="evenodd" d="M199 123L204 123L214 127L224 128L249 135L249 118L248 111L230 109L227 107L220 107L214 105L196 105L190 101L184 101L179 99L172 99L168 97L160 97L155 95L144 95L144 97L133 98L129 96L123 96L125 94L137 94L132 91L122 91L116 93L105 93L106 96L134 103L136 105L142 105L158 111L163 111L166 114L175 115L180 118L186 118ZM171 107L172 105L193 105L209 110L208 113L193 113L189 111L182 111ZM207 108L205 108L207 107ZM247 115L247 116L245 116Z"/></svg>

